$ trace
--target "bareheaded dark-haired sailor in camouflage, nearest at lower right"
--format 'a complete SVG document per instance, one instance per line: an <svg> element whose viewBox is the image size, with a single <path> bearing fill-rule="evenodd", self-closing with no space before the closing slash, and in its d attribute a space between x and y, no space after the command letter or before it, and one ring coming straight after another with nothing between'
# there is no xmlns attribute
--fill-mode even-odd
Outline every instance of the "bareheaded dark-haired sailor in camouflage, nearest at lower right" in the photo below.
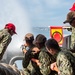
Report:
<svg viewBox="0 0 75 75"><path fill-rule="evenodd" d="M47 51L56 58L51 64L51 70L58 72L58 75L75 75L75 57L70 51L61 50L55 39L48 39L45 43Z"/></svg>

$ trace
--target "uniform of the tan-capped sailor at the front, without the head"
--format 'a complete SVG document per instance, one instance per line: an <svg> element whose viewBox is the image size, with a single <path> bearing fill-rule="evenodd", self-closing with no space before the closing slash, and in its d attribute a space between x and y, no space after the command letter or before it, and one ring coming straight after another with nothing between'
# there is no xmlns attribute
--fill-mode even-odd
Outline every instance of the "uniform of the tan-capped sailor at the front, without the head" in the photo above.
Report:
<svg viewBox="0 0 75 75"><path fill-rule="evenodd" d="M26 52L25 57L23 59L23 71L24 75L41 75L40 69L37 66L37 64L33 61L31 61L31 58L38 59L38 54L33 54L32 49L34 48L34 45L31 45L29 47L29 50Z"/></svg>

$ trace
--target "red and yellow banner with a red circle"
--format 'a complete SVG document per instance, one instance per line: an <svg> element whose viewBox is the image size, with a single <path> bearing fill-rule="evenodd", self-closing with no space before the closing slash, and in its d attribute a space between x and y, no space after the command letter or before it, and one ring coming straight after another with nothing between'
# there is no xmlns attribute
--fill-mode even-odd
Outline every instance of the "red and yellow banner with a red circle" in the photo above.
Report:
<svg viewBox="0 0 75 75"><path fill-rule="evenodd" d="M50 36L54 38L59 45L63 44L63 29L62 27L51 26L50 27Z"/></svg>

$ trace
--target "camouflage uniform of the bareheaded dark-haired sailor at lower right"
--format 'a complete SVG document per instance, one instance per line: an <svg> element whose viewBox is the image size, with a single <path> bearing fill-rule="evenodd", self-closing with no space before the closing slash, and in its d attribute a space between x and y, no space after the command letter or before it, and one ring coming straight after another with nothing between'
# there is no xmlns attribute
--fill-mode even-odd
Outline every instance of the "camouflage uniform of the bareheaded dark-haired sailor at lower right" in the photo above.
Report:
<svg viewBox="0 0 75 75"><path fill-rule="evenodd" d="M75 75L75 57L69 51L59 51L56 58L60 75Z"/></svg>

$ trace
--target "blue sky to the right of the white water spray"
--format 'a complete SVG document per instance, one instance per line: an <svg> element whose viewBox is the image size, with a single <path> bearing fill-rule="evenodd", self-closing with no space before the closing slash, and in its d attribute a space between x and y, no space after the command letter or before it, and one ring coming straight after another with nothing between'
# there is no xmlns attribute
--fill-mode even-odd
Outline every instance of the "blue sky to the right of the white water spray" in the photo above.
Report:
<svg viewBox="0 0 75 75"><path fill-rule="evenodd" d="M31 26L63 25L74 0L22 0Z"/></svg>

